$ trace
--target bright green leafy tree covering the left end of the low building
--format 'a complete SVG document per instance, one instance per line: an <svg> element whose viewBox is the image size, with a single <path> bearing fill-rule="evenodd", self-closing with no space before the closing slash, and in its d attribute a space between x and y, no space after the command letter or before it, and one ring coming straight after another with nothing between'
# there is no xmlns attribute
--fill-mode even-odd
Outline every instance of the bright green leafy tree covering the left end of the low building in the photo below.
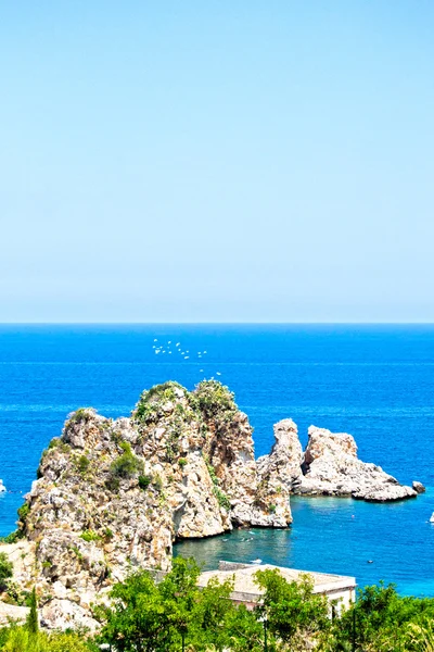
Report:
<svg viewBox="0 0 434 652"><path fill-rule="evenodd" d="M177 559L159 584L141 570L115 585L112 606L97 610L104 620L99 642L118 652L178 652L182 642L186 650L222 650L230 640L225 620L235 610L232 585L212 581L201 590L199 574L193 560Z"/></svg>

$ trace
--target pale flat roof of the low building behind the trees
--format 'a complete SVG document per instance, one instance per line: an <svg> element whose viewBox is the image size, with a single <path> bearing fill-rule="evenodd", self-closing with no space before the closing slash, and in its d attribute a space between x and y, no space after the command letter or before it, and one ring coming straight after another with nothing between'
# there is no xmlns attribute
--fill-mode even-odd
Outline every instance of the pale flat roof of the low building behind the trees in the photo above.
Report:
<svg viewBox="0 0 434 652"><path fill-rule="evenodd" d="M257 570L279 570L288 581L296 581L302 575L309 575L314 580L315 593L328 593L339 590L354 589L356 587L356 578L346 575L331 575L329 573L312 573L310 570L298 570L296 568L286 568L282 566L273 566L271 564L245 564L233 565L233 568L224 570L205 570L199 577L197 584L200 587L205 587L212 578L218 579L220 582L227 579L234 580L233 593L248 593L250 595L260 595L264 593L257 584L255 584L255 573ZM242 566L242 567L240 567Z"/></svg>

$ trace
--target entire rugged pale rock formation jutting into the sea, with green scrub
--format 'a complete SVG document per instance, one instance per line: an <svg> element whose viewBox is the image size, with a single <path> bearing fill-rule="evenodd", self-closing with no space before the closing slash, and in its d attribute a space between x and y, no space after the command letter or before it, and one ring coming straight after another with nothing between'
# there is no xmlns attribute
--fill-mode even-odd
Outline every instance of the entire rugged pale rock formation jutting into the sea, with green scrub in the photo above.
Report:
<svg viewBox="0 0 434 652"><path fill-rule="evenodd" d="M69 415L42 454L16 540L0 548L14 565L3 598L20 604L36 585L48 627L92 629L92 604L133 568L169 568L176 539L288 527L291 494L383 502L419 491L358 460L350 435L311 426L303 451L283 419L270 453L255 460L252 431L214 380L193 392L154 387L129 418L90 408Z"/></svg>

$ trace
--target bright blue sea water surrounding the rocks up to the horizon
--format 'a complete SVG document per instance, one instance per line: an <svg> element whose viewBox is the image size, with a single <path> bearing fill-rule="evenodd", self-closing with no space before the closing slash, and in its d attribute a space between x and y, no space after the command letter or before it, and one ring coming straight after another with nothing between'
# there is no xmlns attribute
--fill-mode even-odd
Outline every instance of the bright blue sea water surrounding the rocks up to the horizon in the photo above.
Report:
<svg viewBox="0 0 434 652"><path fill-rule="evenodd" d="M427 492L386 505L294 498L288 530L187 541L177 554L207 567L259 557L434 595L434 326L2 325L0 477L9 492L0 497L0 535L15 528L40 453L69 412L93 405L128 415L144 388L175 379L192 389L212 376L248 414L257 455L268 452L273 423L292 417L303 443L311 424L348 431L362 460L404 482L421 480Z"/></svg>

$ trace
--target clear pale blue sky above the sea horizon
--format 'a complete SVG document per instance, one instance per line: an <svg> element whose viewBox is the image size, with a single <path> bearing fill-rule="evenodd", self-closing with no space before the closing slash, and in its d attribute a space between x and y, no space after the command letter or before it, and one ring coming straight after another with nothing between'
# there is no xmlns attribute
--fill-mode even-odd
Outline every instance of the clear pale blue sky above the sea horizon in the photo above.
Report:
<svg viewBox="0 0 434 652"><path fill-rule="evenodd" d="M4 0L0 322L434 322L433 0Z"/></svg>

